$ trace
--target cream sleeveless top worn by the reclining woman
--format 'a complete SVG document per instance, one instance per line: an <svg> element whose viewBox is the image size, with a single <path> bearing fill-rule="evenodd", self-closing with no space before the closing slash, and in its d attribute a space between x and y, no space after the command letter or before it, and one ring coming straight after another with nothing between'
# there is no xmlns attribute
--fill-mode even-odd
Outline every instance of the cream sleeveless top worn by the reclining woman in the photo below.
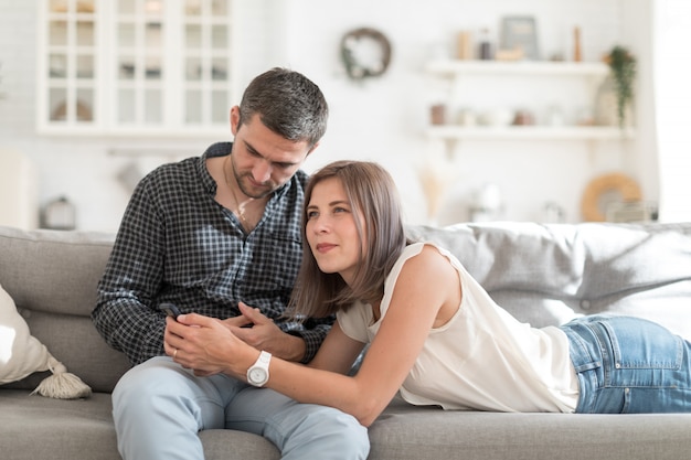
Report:
<svg viewBox="0 0 691 460"><path fill-rule="evenodd" d="M415 243L403 250L386 277L379 321L373 322L371 306L362 302L337 313L343 332L363 343L373 340L403 265L425 244L456 268L463 299L446 324L429 331L401 396L411 404L444 409L574 411L578 383L566 334L555 327L535 329L519 322L495 303L454 255L432 243Z"/></svg>

